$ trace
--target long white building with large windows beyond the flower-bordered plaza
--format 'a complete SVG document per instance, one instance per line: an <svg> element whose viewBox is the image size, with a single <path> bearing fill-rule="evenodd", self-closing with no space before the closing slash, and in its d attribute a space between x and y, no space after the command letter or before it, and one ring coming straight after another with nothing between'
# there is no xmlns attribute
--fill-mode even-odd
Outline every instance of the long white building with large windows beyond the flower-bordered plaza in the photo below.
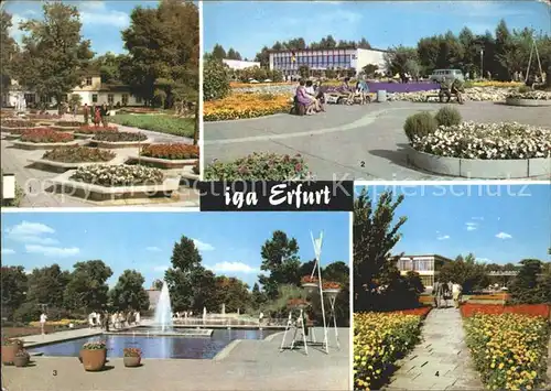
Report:
<svg viewBox="0 0 551 391"><path fill-rule="evenodd" d="M385 68L385 51L332 47L305 48L294 51L270 52L270 70L280 70L284 76L296 76L301 66L307 66L311 72L327 69L356 69L356 75L368 64Z"/></svg>

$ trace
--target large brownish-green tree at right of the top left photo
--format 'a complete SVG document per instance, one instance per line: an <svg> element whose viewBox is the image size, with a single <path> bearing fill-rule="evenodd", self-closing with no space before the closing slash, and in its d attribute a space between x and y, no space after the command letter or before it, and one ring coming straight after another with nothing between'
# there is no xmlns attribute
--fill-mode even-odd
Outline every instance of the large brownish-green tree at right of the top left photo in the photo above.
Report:
<svg viewBox="0 0 551 391"><path fill-rule="evenodd" d="M156 9L136 8L130 20L130 26L122 31L129 55L120 68L132 94L148 104L162 102L165 108L176 101L195 100L199 59L197 6L187 0L162 0Z"/></svg>

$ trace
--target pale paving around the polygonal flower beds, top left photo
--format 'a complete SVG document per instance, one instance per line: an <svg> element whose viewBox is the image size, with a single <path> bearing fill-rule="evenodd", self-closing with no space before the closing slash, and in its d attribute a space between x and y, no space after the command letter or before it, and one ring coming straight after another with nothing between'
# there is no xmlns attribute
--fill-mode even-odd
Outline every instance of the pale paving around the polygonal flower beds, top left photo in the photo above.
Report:
<svg viewBox="0 0 551 391"><path fill-rule="evenodd" d="M80 116L82 117L82 116ZM69 118L74 119L73 116ZM83 121L83 118L77 118L77 120ZM193 140L173 135L164 134L149 130L142 130L137 128L125 127L116 124L120 131L127 132L141 132L148 138L152 139L154 143L168 143L168 142L184 142L192 143ZM137 148L125 148L112 150L118 155L130 156L138 155L139 151ZM169 206L169 207L198 207L198 193L190 187L181 186L179 189L179 199L173 200L169 198L155 198L154 200L144 202L143 199L117 199L109 200L108 203L94 203L86 200L84 198L77 198L69 195L54 194L51 192L45 192L43 189L48 189L51 184L48 180L60 175L58 173L53 173L48 171L43 171L33 167L29 160L40 159L45 151L26 151L12 146L10 140L1 140L1 161L2 170L7 173L15 174L15 180L21 187L25 188L25 196L21 202L21 207L90 207L90 206Z"/></svg>

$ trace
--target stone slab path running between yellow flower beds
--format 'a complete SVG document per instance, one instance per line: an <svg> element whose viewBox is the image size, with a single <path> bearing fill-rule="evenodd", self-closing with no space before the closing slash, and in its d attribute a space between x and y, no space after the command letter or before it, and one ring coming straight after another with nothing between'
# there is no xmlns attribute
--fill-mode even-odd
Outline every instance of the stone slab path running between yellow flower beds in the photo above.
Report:
<svg viewBox="0 0 551 391"><path fill-rule="evenodd" d="M465 344L458 309L433 309L422 328L423 340L406 358L386 390L482 390Z"/></svg>

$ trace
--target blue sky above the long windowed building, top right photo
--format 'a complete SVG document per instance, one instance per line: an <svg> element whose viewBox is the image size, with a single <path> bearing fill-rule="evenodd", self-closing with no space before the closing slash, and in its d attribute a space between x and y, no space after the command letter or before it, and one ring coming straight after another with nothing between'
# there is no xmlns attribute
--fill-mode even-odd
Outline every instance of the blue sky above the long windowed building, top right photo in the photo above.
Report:
<svg viewBox="0 0 551 391"><path fill-rule="evenodd" d="M547 1L547 3L545 3ZM549 0L516 1L205 1L204 51L219 43L252 59L262 46L304 37L306 43L332 34L375 48L414 46L421 37L495 31L500 19L510 29L551 32Z"/></svg>

